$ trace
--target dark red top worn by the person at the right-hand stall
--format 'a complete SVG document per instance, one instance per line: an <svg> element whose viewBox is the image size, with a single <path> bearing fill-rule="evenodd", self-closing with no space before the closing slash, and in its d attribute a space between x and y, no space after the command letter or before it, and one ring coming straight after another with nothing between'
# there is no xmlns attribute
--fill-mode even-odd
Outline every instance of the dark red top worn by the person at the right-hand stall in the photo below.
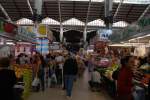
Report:
<svg viewBox="0 0 150 100"><path fill-rule="evenodd" d="M132 93L132 78L132 71L127 67L122 67L117 81L118 94L126 95Z"/></svg>

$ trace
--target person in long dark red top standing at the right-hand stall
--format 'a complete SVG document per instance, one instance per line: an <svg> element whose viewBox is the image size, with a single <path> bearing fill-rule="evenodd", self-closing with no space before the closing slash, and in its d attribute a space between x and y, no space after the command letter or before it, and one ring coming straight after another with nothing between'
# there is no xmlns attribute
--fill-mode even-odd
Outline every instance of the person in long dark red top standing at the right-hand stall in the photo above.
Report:
<svg viewBox="0 0 150 100"><path fill-rule="evenodd" d="M126 56L122 60L124 64L120 69L117 80L118 100L132 100L132 68L134 67L134 60L133 56Z"/></svg>

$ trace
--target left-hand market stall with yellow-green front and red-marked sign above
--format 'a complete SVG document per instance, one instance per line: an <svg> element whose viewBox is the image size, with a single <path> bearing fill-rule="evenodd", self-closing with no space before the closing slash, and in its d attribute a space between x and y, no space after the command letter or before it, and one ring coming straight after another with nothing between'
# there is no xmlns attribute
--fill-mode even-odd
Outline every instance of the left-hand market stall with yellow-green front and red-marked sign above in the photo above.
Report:
<svg viewBox="0 0 150 100"><path fill-rule="evenodd" d="M35 44L35 34L21 26L0 19L0 58L16 58L20 53L32 54ZM11 60L12 60L11 58ZM30 64L18 65L11 62L11 69L17 76L17 84L14 86L19 98L27 98L31 92L32 66Z"/></svg>

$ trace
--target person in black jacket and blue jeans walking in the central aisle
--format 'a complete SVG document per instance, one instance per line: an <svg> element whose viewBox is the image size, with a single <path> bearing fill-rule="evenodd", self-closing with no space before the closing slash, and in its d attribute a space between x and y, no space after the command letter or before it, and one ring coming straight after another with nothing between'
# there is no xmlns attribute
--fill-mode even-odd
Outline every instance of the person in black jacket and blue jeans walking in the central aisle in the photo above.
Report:
<svg viewBox="0 0 150 100"><path fill-rule="evenodd" d="M74 57L69 57L64 64L63 74L67 97L71 97L73 82L78 73L77 61Z"/></svg>

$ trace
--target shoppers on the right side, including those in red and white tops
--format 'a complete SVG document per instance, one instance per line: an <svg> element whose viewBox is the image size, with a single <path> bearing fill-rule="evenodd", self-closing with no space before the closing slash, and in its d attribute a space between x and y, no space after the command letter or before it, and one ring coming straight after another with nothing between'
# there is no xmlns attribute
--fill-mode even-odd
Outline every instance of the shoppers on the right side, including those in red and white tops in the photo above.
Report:
<svg viewBox="0 0 150 100"><path fill-rule="evenodd" d="M90 55L89 60L89 72L91 72L91 80L89 85L92 91L100 91L103 86L101 73L98 71L97 67L92 65L92 55ZM140 69L141 66L149 67L147 68L147 73L150 73L150 54L146 57L141 58L132 54L119 55L111 53L109 55L110 65L114 67L119 66L111 76L111 80L116 83L115 100L149 100L150 99L150 78L148 83L148 89L139 83L135 84L135 80L141 80L145 77ZM148 90L148 93L146 91Z"/></svg>

